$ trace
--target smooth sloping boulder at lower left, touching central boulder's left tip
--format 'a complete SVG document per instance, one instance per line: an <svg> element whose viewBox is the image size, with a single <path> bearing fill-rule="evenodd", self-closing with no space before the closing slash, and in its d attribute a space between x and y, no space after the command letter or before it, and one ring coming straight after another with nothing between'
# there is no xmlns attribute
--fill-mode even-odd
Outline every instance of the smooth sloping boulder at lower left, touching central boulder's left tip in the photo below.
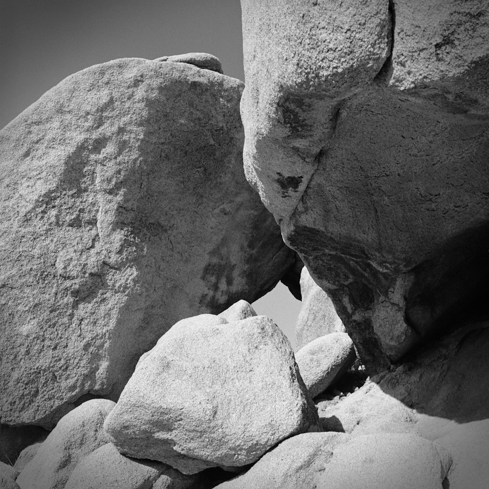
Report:
<svg viewBox="0 0 489 489"><path fill-rule="evenodd" d="M63 488L78 462L109 442L103 423L114 406L111 400L93 399L64 416L20 473L19 486Z"/></svg>

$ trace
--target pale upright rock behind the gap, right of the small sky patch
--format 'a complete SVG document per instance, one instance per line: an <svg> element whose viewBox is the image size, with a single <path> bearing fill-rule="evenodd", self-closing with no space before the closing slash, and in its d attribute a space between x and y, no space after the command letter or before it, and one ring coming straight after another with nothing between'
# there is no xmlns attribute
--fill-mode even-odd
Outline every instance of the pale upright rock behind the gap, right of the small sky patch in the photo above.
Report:
<svg viewBox="0 0 489 489"><path fill-rule="evenodd" d="M295 326L297 349L325 334L344 333L345 327L336 314L332 300L314 282L307 267L302 268L300 285L302 306Z"/></svg>

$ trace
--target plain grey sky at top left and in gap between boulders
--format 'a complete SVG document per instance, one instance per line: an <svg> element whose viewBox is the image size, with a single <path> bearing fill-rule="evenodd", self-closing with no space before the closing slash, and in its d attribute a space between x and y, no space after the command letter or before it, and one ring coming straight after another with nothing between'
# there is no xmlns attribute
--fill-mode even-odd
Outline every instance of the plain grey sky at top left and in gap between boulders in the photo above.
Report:
<svg viewBox="0 0 489 489"><path fill-rule="evenodd" d="M239 0L0 0L0 128L68 75L117 58L207 52L244 81ZM295 348L300 309L280 284L253 304Z"/></svg>

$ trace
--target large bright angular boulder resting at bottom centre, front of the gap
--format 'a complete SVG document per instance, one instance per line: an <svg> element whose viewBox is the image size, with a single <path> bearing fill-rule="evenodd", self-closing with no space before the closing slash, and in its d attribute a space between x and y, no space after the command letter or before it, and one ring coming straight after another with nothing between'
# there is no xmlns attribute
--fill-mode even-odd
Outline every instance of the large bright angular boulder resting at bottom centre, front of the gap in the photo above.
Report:
<svg viewBox="0 0 489 489"><path fill-rule="evenodd" d="M242 467L317 423L289 341L266 316L172 328L148 356L104 429L129 456L183 473Z"/></svg>

